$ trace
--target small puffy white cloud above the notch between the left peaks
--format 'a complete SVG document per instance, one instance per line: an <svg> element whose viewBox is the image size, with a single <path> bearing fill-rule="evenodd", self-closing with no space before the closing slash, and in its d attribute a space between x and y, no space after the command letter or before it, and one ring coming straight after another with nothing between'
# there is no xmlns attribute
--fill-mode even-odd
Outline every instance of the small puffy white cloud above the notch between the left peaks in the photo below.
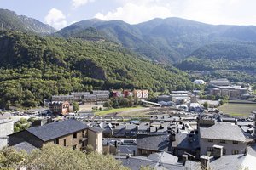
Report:
<svg viewBox="0 0 256 170"><path fill-rule="evenodd" d="M51 8L48 14L44 17L44 20L49 26L55 27L55 29L61 29L67 26L67 20L65 14L61 10Z"/></svg>

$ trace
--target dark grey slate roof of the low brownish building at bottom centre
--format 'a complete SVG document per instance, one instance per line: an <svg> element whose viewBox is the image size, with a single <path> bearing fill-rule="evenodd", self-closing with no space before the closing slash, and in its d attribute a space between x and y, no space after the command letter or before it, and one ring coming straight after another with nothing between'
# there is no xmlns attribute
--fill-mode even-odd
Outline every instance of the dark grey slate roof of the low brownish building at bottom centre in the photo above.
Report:
<svg viewBox="0 0 256 170"><path fill-rule="evenodd" d="M169 151L171 149L169 135L138 134L137 148L143 150Z"/></svg>

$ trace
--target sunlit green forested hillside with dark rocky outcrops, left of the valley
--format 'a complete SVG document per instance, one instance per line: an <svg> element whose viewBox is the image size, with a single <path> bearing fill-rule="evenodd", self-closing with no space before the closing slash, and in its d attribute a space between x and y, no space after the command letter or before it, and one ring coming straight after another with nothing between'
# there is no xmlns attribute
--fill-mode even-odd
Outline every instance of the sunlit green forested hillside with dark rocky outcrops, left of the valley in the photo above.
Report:
<svg viewBox="0 0 256 170"><path fill-rule="evenodd" d="M42 105L54 94L109 88L192 89L183 71L113 42L0 31L0 104Z"/></svg>

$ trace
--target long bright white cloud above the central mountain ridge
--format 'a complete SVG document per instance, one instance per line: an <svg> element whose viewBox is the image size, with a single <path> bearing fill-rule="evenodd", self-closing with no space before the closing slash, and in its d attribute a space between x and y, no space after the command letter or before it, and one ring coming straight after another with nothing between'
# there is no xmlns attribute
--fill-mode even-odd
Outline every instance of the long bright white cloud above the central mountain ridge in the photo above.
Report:
<svg viewBox="0 0 256 170"><path fill-rule="evenodd" d="M139 3L125 3L123 7L115 8L107 14L97 13L96 18L101 20L124 20L130 24L137 24L153 18L171 17L170 9L160 5L150 5L154 0L139 1Z"/></svg>

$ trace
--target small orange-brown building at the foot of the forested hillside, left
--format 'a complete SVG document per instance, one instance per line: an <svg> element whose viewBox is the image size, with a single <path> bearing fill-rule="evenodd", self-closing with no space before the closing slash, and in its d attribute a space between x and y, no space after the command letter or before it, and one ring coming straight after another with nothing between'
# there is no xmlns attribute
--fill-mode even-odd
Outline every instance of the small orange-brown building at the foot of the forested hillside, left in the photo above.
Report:
<svg viewBox="0 0 256 170"><path fill-rule="evenodd" d="M67 115L70 105L68 101L52 101L49 103L49 112L55 115Z"/></svg>

